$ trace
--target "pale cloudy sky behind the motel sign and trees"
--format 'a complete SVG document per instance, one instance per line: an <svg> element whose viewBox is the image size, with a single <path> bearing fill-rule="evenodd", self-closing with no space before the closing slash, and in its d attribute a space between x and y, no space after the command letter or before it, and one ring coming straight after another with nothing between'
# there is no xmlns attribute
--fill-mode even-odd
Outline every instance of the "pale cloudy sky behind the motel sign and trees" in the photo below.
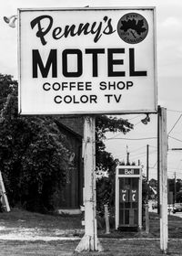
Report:
<svg viewBox="0 0 182 256"><path fill-rule="evenodd" d="M35 7L90 7L96 6L156 6L157 8L157 104L167 108L167 174L182 178L182 1L181 0L6 0L0 8L0 72L17 79L17 29L8 27L3 16L17 14L17 8ZM121 161L138 160L146 170L147 144L149 145L149 178L157 178L157 114L150 114L147 125L141 123L145 114L121 116L134 124L134 130L123 133L108 133L106 149Z"/></svg>

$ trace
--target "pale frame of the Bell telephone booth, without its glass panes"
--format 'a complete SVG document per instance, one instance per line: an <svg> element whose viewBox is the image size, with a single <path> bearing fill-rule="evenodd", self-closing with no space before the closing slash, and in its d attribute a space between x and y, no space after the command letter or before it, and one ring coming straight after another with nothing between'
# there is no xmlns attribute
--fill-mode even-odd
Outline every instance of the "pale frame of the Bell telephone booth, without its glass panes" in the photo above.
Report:
<svg viewBox="0 0 182 256"><path fill-rule="evenodd" d="M124 200L126 200L126 197L128 197L128 195L126 195L126 194L121 195L122 192L126 193L126 190L124 188L121 189L120 184L126 178L127 178L127 180L130 180L131 183L133 180L136 181L136 179L137 179L137 184L136 184L137 189L136 189L136 191L135 190L130 191L129 197L131 198L130 200L132 200L132 198L134 200L137 200L137 219L136 219L137 223L133 226L135 226L135 227L137 227L137 229L141 230L142 229L142 167L139 165L118 165L118 166L116 166L116 229L118 229L120 227L131 227L132 226L128 223L127 223L127 225L125 225L125 223L123 225L120 224L120 212L121 212L121 210L119 210L120 209L120 200L122 200L122 198ZM128 178L130 178L130 179L128 179ZM134 192L136 194L133 194L133 196L132 196L132 192ZM130 215L130 211L132 211L132 209L128 208L127 213L129 215ZM135 218L134 210L132 212L133 212L133 218ZM131 219L131 218L132 217L128 216L128 219Z"/></svg>

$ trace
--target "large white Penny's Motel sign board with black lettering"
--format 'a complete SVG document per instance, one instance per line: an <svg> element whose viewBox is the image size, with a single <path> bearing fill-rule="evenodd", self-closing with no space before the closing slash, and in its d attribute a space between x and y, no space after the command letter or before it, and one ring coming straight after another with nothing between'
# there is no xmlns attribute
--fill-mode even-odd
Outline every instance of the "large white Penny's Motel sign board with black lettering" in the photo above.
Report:
<svg viewBox="0 0 182 256"><path fill-rule="evenodd" d="M19 9L19 112L157 112L155 8Z"/></svg>

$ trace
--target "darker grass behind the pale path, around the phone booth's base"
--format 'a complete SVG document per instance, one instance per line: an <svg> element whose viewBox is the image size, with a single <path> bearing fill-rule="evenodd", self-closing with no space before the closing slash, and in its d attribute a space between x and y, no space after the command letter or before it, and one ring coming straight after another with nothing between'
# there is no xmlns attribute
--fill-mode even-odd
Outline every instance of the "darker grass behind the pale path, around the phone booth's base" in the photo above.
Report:
<svg viewBox="0 0 182 256"><path fill-rule="evenodd" d="M149 213L149 234L143 232L119 232L111 226L110 234L106 235L105 219L99 219L98 237L100 238L159 238L160 219L157 213ZM29 212L23 209L13 208L10 212L0 213L0 226L6 228L32 228L32 229L77 229L80 236L83 235L84 227L81 226L81 216L70 215L45 215ZM168 216L169 238L182 239L182 219L177 216Z"/></svg>

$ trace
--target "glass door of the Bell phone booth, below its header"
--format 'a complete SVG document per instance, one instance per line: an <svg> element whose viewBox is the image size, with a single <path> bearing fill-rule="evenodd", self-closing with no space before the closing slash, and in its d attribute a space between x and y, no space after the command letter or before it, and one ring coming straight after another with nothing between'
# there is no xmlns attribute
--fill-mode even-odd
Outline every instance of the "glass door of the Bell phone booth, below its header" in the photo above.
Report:
<svg viewBox="0 0 182 256"><path fill-rule="evenodd" d="M138 177L119 177L119 227L138 227Z"/></svg>

